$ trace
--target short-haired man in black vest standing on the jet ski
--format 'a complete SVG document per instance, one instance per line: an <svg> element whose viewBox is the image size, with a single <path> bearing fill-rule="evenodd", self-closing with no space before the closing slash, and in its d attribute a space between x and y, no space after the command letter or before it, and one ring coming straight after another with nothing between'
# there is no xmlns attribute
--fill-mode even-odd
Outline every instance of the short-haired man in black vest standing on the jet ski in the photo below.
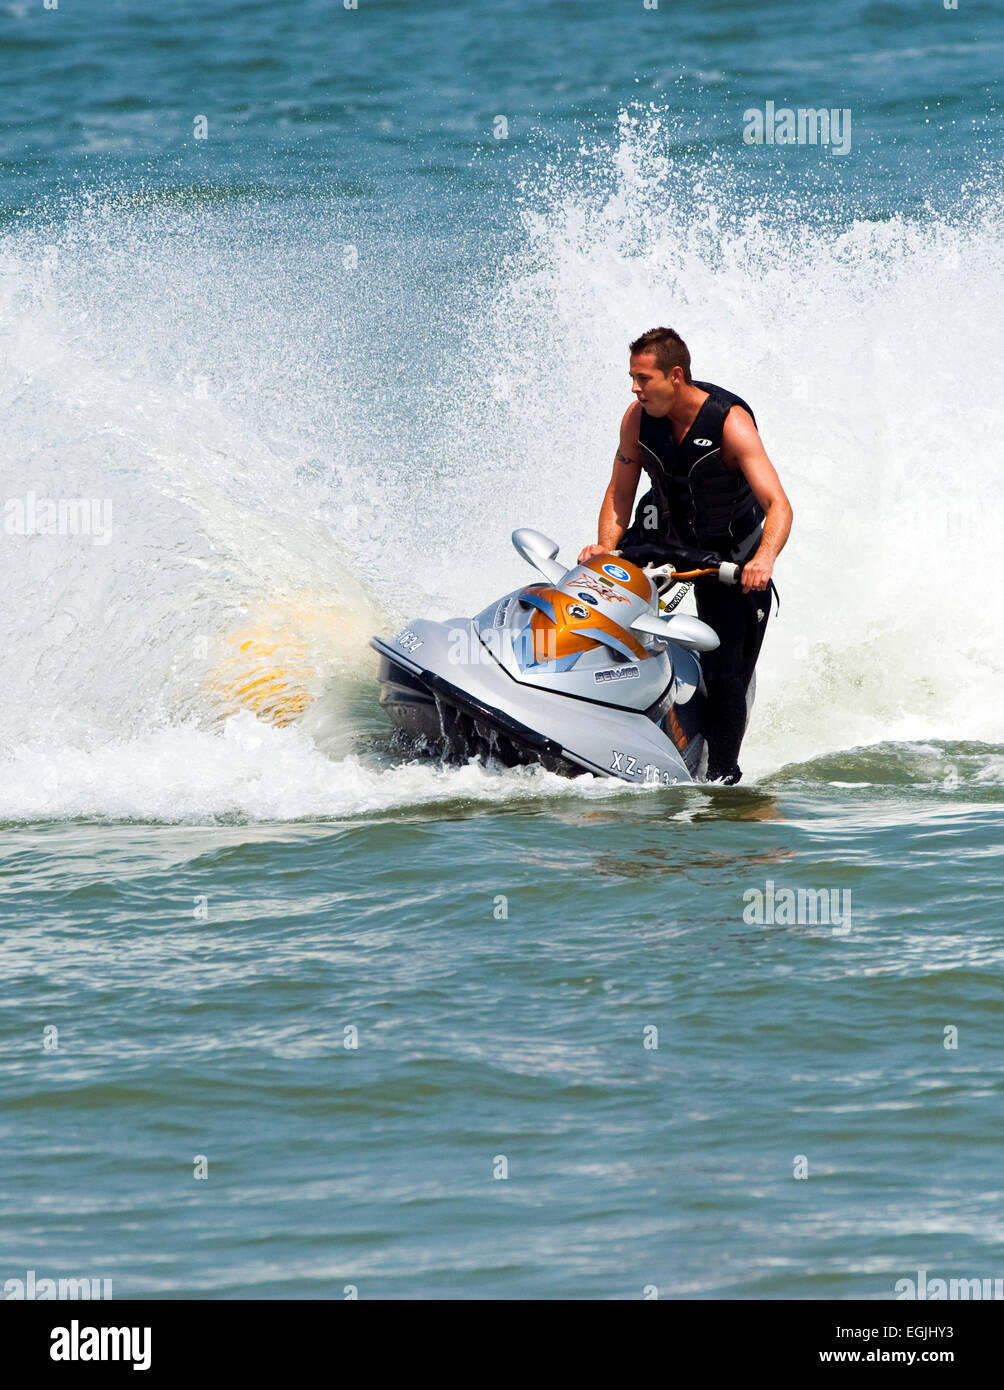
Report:
<svg viewBox="0 0 1004 1390"><path fill-rule="evenodd" d="M620 448L599 510L598 545L578 563L622 548L638 563L672 560L704 569L743 564L741 588L695 585L697 612L720 646L702 657L708 688L708 780L743 776L747 687L770 613L775 560L791 530L791 505L766 456L745 400L694 381L690 352L672 328L652 328L630 345L634 404L620 421ZM652 484L629 528L641 470Z"/></svg>

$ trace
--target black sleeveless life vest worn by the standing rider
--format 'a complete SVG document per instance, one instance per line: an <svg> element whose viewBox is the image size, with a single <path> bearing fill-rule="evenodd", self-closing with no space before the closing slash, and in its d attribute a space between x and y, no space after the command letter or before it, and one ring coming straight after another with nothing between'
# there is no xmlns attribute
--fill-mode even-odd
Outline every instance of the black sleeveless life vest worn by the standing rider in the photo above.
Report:
<svg viewBox="0 0 1004 1390"><path fill-rule="evenodd" d="M722 430L733 406L748 411L754 424L756 418L741 396L709 381L694 385L706 391L708 399L680 443L673 421L649 416L642 406L638 455L652 492L638 503L638 517L642 506L654 500L659 539L681 541L729 559L763 521L763 509L743 473L733 473L722 461ZM647 539L655 539L651 530Z"/></svg>

